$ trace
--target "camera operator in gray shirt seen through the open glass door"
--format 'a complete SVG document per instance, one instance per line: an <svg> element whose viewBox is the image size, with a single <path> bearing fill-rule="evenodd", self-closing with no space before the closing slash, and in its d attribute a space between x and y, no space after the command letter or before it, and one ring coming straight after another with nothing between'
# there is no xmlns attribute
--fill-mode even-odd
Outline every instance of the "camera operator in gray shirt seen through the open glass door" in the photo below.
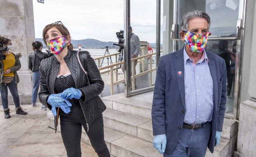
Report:
<svg viewBox="0 0 256 157"><path fill-rule="evenodd" d="M131 53L131 59L132 58L136 58L139 55L140 52L140 41L139 41L139 37L133 33L133 29L130 26L130 53ZM135 67L137 65L137 61L135 60ZM121 69L124 73L124 64L122 64ZM135 70L135 74L136 74L136 70Z"/></svg>

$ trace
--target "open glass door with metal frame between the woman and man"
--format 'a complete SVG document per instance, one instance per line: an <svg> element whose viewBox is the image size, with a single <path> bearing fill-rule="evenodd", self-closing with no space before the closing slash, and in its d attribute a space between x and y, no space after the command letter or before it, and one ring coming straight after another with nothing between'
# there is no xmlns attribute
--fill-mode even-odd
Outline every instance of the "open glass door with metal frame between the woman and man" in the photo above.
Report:
<svg viewBox="0 0 256 157"><path fill-rule="evenodd" d="M160 29L158 0L124 0L124 67L125 96L153 91ZM159 5L160 7L160 5ZM157 12L158 11L158 12ZM158 31L160 32L160 31ZM159 49L158 49L159 48Z"/></svg>

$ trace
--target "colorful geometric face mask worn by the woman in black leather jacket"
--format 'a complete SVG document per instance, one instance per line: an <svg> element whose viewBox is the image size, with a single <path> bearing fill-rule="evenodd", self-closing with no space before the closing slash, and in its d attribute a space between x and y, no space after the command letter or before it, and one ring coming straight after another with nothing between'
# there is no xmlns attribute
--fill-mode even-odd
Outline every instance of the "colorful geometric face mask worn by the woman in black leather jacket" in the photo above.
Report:
<svg viewBox="0 0 256 157"><path fill-rule="evenodd" d="M57 37L51 40L47 40L46 42L50 51L52 51L54 55L61 53L68 44L66 43L66 36Z"/></svg>

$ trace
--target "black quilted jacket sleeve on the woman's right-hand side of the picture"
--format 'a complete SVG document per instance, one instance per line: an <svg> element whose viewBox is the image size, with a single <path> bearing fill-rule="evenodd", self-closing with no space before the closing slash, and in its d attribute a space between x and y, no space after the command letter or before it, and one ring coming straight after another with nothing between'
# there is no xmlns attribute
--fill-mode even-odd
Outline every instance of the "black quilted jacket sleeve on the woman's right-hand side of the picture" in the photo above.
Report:
<svg viewBox="0 0 256 157"><path fill-rule="evenodd" d="M104 82L101 79L101 73L98 70L98 67L96 66L93 58L89 55L89 53L86 54L87 59L85 59L85 67L88 73L88 78L90 84L80 88L80 90L83 91L85 94L85 99L82 100L82 102L87 102L88 100L98 96L104 88Z"/></svg>

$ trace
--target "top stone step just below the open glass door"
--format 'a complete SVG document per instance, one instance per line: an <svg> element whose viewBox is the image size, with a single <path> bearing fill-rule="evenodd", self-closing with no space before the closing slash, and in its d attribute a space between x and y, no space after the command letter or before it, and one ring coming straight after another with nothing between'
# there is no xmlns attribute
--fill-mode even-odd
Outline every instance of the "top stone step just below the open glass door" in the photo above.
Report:
<svg viewBox="0 0 256 157"><path fill-rule="evenodd" d="M152 102L123 97L112 103L115 111L151 119Z"/></svg>

